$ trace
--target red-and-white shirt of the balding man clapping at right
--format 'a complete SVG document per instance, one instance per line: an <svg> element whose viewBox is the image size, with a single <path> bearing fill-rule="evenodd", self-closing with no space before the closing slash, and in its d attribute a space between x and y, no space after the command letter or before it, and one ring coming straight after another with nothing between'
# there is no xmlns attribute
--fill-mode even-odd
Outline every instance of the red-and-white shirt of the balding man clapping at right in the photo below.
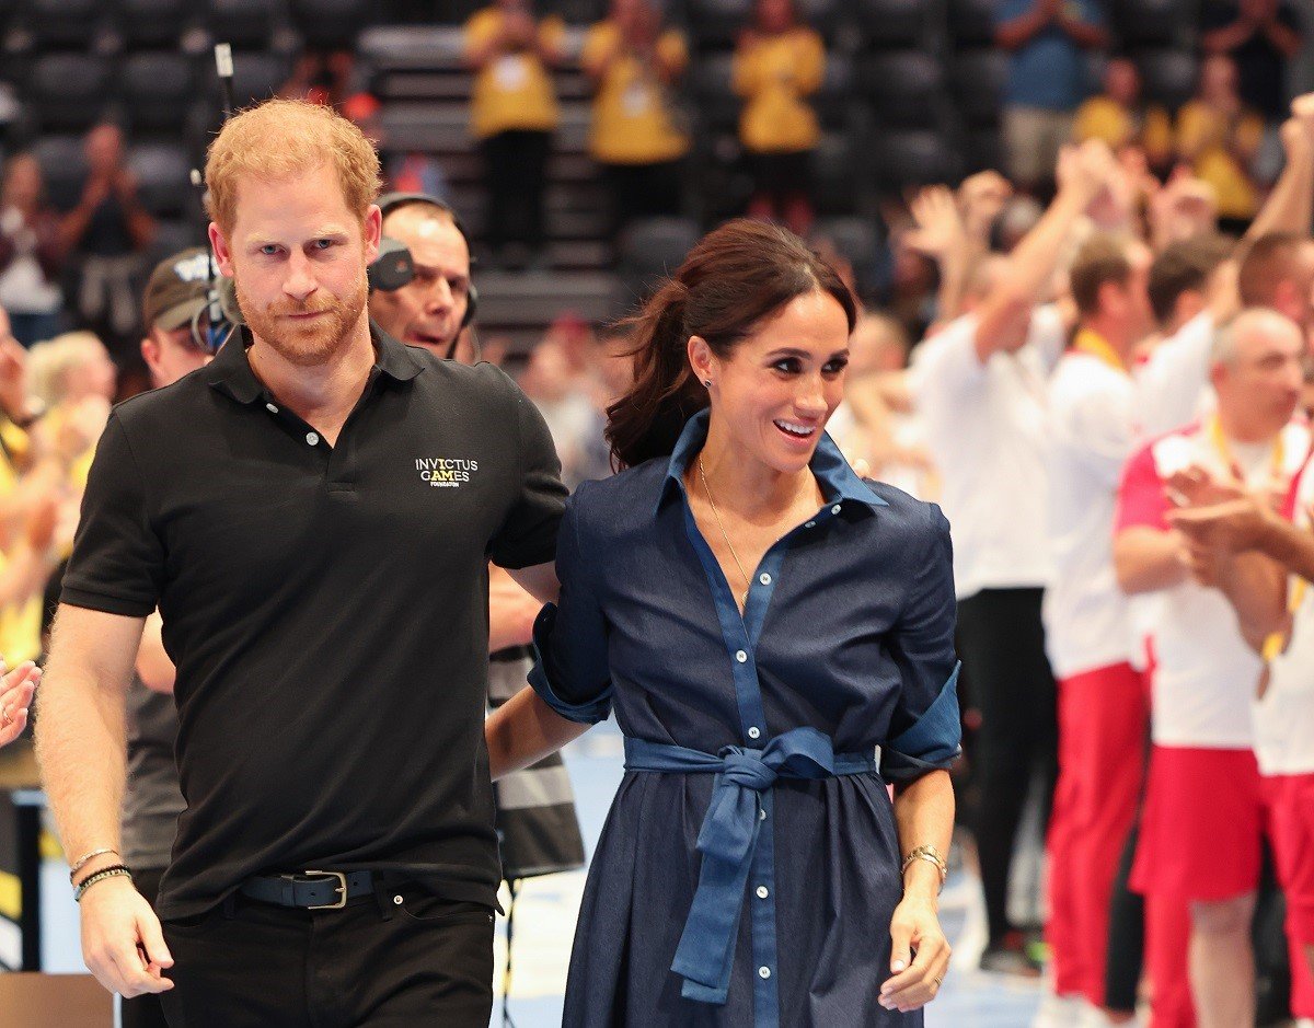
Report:
<svg viewBox="0 0 1314 1028"><path fill-rule="evenodd" d="M1227 440L1235 461L1254 489L1290 481L1309 451L1303 423L1288 425L1280 444L1242 446ZM1276 460L1275 460L1276 457ZM1169 432L1138 450L1118 489L1116 531L1146 526L1168 528L1164 484L1190 465L1225 475L1229 457L1219 452L1209 426ZM1248 749L1254 744L1251 698L1261 661L1246 644L1236 613L1217 589L1187 581L1156 593L1150 636L1155 655L1151 681L1151 735L1155 744L1205 749Z"/></svg>

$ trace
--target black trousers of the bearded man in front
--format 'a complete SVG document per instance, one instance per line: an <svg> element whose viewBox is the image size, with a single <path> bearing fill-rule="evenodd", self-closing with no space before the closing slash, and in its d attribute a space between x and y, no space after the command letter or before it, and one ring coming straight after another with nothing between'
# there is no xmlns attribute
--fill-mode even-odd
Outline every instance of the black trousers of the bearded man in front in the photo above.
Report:
<svg viewBox="0 0 1314 1028"><path fill-rule="evenodd" d="M238 898L164 940L170 1028L487 1028L493 1011L493 911L415 883L342 910Z"/></svg>

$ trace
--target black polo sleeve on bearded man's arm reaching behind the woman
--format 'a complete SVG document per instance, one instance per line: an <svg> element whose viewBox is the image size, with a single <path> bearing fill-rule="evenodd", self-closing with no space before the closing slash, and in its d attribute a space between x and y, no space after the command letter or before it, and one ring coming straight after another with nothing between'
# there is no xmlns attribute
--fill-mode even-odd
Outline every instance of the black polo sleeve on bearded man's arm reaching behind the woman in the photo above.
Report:
<svg viewBox="0 0 1314 1028"><path fill-rule="evenodd" d="M506 521L489 543L489 557L499 568L514 571L552 560L566 488L561 484L561 461L552 434L539 409L505 372L494 371L514 408L509 414L515 425L518 481Z"/></svg>

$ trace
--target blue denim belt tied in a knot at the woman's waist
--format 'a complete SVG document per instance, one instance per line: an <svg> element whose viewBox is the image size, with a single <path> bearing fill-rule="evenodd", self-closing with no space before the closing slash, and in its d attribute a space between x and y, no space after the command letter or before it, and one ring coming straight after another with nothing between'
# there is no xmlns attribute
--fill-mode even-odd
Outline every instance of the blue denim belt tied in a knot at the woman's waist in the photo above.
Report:
<svg viewBox="0 0 1314 1028"><path fill-rule="evenodd" d="M670 965L685 979L685 999L725 1003L744 890L762 824L759 794L777 778L833 778L875 769L874 749L836 753L829 736L816 728L794 728L762 749L728 745L717 756L625 737L625 770L716 776L698 832L698 852L703 854L698 891Z"/></svg>

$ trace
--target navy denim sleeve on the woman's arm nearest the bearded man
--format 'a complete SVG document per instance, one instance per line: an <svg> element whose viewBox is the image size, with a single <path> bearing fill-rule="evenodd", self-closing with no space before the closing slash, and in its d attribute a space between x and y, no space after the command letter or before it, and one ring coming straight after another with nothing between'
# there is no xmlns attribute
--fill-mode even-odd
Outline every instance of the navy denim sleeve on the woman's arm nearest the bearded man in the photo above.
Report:
<svg viewBox="0 0 1314 1028"><path fill-rule="evenodd" d="M597 724L611 713L607 619L598 588L599 553L581 539L579 494L566 502L557 540L561 594L533 624L530 685L544 703L569 720Z"/></svg>

